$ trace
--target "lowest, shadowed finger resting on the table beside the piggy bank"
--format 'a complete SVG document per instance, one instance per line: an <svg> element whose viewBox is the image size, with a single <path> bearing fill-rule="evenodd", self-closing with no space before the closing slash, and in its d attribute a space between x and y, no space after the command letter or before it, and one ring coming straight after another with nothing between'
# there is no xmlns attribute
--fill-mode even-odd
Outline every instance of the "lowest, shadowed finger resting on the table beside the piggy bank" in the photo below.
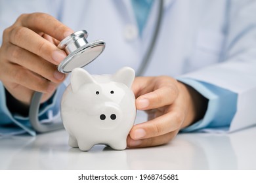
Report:
<svg viewBox="0 0 256 183"><path fill-rule="evenodd" d="M130 136L127 137L127 146L129 148L142 148L149 146L160 146L167 144L169 141L174 139L179 131L173 131L158 137L152 137L148 139L133 140Z"/></svg>

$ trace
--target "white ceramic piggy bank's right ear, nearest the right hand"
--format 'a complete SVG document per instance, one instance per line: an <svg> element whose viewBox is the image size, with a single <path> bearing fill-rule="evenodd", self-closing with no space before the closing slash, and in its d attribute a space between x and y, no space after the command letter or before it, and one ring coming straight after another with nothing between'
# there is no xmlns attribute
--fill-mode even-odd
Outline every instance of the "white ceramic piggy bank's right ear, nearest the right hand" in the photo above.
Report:
<svg viewBox="0 0 256 183"><path fill-rule="evenodd" d="M128 88L131 88L133 80L135 78L135 71L131 67L123 67L119 69L112 78L116 82L125 84Z"/></svg>

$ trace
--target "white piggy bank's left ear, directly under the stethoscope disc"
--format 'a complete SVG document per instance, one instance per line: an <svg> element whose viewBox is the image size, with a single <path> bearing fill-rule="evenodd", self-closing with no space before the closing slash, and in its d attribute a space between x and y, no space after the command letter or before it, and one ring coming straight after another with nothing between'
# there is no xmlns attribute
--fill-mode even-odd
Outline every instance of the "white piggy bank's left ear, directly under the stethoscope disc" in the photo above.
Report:
<svg viewBox="0 0 256 183"><path fill-rule="evenodd" d="M83 84L95 82L93 77L84 69L75 68L70 77L70 84L73 92L77 92Z"/></svg>

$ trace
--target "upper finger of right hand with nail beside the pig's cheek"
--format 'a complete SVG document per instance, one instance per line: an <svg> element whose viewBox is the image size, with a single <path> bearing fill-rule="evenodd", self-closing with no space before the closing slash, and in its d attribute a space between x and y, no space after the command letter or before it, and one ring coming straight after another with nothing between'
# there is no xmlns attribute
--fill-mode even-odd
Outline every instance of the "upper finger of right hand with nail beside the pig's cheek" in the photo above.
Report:
<svg viewBox="0 0 256 183"><path fill-rule="evenodd" d="M170 105L177 99L178 93L175 85L163 86L138 97L136 99L136 107L139 110L148 110Z"/></svg>

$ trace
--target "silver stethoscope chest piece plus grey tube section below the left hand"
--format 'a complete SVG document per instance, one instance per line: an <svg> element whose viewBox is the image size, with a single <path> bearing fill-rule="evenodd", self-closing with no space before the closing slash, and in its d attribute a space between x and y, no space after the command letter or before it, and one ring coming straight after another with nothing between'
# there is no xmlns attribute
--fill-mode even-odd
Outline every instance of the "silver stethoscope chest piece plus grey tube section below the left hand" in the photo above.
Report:
<svg viewBox="0 0 256 183"><path fill-rule="evenodd" d="M87 31L77 31L58 44L58 48L64 50L68 55L60 65L58 65L58 71L61 73L70 73L77 67L83 67L91 63L91 61L96 59L103 52L105 48L104 41L97 40L88 43L86 40L87 37ZM64 126L61 121L52 124L42 124L39 122L38 114L42 95L43 93L35 92L32 97L29 118L33 129L39 133L62 129Z"/></svg>

